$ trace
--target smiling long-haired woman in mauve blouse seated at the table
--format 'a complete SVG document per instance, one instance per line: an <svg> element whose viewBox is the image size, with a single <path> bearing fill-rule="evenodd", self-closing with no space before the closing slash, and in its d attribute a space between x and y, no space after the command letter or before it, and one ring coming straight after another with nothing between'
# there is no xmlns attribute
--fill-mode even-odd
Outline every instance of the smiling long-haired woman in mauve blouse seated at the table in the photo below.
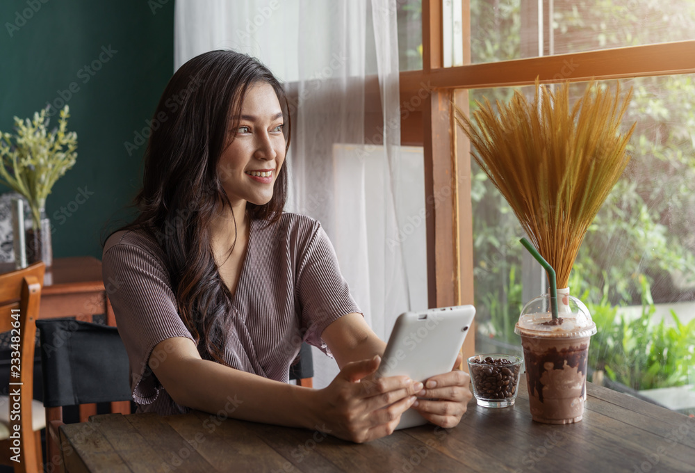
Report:
<svg viewBox="0 0 695 473"><path fill-rule="evenodd" d="M248 56L202 54L168 83L140 214L103 255L138 410L222 410L354 442L389 435L411 406L455 426L471 399L462 371L426 387L373 380L385 344L350 296L329 239L318 222L282 212L289 136L280 83ZM322 390L287 383L302 339L341 368Z"/></svg>

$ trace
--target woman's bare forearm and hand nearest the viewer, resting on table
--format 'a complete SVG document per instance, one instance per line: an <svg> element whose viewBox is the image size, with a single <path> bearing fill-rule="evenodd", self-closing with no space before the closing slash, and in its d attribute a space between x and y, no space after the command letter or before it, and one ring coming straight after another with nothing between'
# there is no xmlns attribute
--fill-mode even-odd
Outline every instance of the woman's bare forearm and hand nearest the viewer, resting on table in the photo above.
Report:
<svg viewBox="0 0 695 473"><path fill-rule="evenodd" d="M202 360L190 339L167 339L154 347L151 365L174 402L236 419L314 428L353 442L389 435L400 414L415 401L414 385L404 376L384 378L368 392L358 383L379 366L374 357L348 362L322 390L279 383L217 362Z"/></svg>

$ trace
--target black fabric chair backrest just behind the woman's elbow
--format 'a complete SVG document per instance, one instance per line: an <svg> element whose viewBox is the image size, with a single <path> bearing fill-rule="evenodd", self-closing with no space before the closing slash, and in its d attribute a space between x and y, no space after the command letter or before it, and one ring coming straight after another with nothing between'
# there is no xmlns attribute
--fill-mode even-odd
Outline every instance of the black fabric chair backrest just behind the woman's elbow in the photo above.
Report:
<svg viewBox="0 0 695 473"><path fill-rule="evenodd" d="M115 327L44 319L40 330L44 407L130 401L128 354Z"/></svg>

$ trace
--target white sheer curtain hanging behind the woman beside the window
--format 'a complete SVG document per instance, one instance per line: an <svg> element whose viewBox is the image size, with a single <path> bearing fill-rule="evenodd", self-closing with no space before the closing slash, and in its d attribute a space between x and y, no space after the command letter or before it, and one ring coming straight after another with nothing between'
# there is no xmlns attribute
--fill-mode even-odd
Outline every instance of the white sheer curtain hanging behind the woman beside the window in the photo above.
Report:
<svg viewBox="0 0 695 473"><path fill-rule="evenodd" d="M398 314L427 307L422 154L400 147L396 0L177 0L175 12L176 67L235 49L286 82L287 210L322 223L366 320L387 339ZM366 117L376 125L367 134ZM338 372L318 352L314 369L315 387Z"/></svg>

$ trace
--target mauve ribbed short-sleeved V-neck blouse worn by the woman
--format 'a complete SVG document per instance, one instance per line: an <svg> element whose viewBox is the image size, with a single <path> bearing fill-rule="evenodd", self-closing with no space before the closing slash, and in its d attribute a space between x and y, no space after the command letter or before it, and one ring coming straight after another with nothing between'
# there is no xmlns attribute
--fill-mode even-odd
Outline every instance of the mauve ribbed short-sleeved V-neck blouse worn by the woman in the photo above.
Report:
<svg viewBox="0 0 695 473"><path fill-rule="evenodd" d="M266 225L251 221L229 314L224 362L286 383L302 340L329 353L321 339L323 330L360 310L318 221L283 214ZM177 312L161 248L144 232L116 232L104 246L102 275L105 284L115 287L108 297L128 352L138 412L187 412L174 403L148 366L159 342L172 337L193 340Z"/></svg>

